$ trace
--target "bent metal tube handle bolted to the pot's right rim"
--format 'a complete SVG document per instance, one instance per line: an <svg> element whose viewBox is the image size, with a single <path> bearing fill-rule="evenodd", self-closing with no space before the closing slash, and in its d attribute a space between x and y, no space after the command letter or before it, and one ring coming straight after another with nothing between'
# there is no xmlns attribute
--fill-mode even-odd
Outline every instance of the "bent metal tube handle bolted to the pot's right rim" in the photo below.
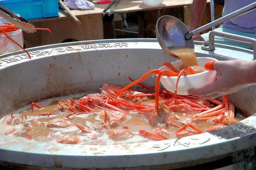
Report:
<svg viewBox="0 0 256 170"><path fill-rule="evenodd" d="M256 60L256 39L244 37L241 35L230 34L227 32L211 31L209 33L209 42L204 41L204 44L201 46L201 49L207 50L207 51L215 50L215 46L214 46L214 37L215 36L226 38L226 39L232 39L232 40L236 40L236 41L241 41L241 42L245 42L245 43L251 43L253 46L253 60Z"/></svg>

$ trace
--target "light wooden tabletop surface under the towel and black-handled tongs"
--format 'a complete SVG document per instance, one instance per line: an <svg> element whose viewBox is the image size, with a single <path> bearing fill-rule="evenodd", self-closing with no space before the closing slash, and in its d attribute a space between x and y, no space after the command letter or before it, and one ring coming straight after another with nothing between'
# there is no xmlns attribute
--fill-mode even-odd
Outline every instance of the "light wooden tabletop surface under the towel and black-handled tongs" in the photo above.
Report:
<svg viewBox="0 0 256 170"><path fill-rule="evenodd" d="M116 10L114 13L124 13L124 12L135 12L135 11L148 11L148 10L156 10L163 8L173 8L173 7L181 7L188 6L192 4L193 0L164 0L164 2L160 5L156 6L148 6L142 3L142 1L135 0L120 0ZM209 3L210 0L207 0ZM87 16L87 15L99 15L102 14L102 11L107 7L108 4L95 4L94 10L71 10L71 12L76 15L76 17ZM46 20L56 20L63 18L70 18L68 13L62 9L59 10L60 16L53 18L42 18L42 19L33 19L30 20L32 22L46 21Z"/></svg>

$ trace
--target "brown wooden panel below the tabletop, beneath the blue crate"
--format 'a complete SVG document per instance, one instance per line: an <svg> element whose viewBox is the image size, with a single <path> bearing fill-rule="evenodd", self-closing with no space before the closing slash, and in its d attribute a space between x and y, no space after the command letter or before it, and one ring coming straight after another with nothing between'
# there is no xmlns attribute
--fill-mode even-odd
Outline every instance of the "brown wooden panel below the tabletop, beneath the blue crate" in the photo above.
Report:
<svg viewBox="0 0 256 170"><path fill-rule="evenodd" d="M76 39L78 41L104 39L101 15L90 15L78 19L82 25L77 25L71 18L34 23L37 27L49 28L52 32L51 34L41 30L34 33L23 32L26 48L58 44L65 39Z"/></svg>

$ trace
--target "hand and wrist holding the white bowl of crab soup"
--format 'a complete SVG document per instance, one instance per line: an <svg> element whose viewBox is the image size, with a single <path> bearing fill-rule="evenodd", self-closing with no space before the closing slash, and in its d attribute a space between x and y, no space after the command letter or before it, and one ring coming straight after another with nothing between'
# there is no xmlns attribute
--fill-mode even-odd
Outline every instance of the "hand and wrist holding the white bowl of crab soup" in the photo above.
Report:
<svg viewBox="0 0 256 170"><path fill-rule="evenodd" d="M215 61L213 67L219 73L219 78L203 88L188 90L190 95L214 99L256 84L255 61Z"/></svg>

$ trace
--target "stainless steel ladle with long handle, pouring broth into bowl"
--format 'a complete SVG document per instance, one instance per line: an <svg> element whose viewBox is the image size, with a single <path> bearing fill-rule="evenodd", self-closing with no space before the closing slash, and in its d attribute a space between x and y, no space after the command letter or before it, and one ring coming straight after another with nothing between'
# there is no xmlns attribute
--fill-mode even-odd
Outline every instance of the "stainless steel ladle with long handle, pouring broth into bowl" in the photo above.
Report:
<svg viewBox="0 0 256 170"><path fill-rule="evenodd" d="M173 48L176 48L177 46L185 46L194 49L194 41L192 40L194 35L197 35L200 32L203 32L213 26L219 25L225 21L236 18L255 9L256 2L247 5L237 11L234 11L224 17L221 17L213 22L210 22L209 24L203 25L191 32L188 31L186 25L184 25L178 18L172 16L163 16L157 21L156 37L165 53L172 57L179 58L177 55L172 53Z"/></svg>

